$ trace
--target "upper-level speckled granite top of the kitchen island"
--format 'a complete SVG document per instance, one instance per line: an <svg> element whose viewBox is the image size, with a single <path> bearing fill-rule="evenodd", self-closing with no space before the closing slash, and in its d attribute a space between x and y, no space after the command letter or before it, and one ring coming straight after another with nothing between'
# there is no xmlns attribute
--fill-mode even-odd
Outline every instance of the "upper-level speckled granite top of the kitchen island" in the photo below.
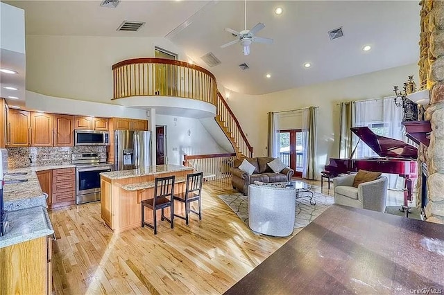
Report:
<svg viewBox="0 0 444 295"><path fill-rule="evenodd" d="M144 175L157 175L161 173L178 172L186 170L193 170L193 168L178 166L178 165L157 165L157 166L149 166L133 170L102 172L101 175L109 179L125 179L125 178L139 177Z"/></svg>

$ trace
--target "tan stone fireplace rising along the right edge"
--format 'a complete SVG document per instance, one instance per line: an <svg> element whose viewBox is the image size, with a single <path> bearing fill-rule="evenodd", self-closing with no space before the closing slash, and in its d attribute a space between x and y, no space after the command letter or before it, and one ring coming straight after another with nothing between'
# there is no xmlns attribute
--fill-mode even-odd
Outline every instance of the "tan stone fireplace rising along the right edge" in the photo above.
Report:
<svg viewBox="0 0 444 295"><path fill-rule="evenodd" d="M419 113L430 121L432 132L429 147L418 149L418 174L425 163L428 177L418 177L416 199L418 207L427 202L428 222L444 224L444 1L422 0L420 5L420 89L429 89L430 104Z"/></svg>

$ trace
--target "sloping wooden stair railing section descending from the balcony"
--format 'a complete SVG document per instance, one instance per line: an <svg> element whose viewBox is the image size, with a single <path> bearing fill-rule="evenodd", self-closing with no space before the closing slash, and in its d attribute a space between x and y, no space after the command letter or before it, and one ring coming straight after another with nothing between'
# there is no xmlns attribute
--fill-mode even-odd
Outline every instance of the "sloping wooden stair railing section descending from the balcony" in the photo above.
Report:
<svg viewBox="0 0 444 295"><path fill-rule="evenodd" d="M217 91L216 107L216 117L214 120L216 120L216 123L221 127L225 136L227 136L237 157L253 157L253 147L248 142L241 129L241 125L239 125L239 121L219 91Z"/></svg>

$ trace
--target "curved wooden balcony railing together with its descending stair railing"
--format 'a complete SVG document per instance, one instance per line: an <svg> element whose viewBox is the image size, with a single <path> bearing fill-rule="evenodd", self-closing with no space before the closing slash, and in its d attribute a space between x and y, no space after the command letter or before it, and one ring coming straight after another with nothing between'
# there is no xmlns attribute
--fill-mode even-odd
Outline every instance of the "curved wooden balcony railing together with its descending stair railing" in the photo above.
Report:
<svg viewBox="0 0 444 295"><path fill-rule="evenodd" d="M216 107L216 122L237 157L253 157L253 147L228 103L217 90L216 78L203 67L164 58L123 60L112 66L114 99L167 96L209 102Z"/></svg>

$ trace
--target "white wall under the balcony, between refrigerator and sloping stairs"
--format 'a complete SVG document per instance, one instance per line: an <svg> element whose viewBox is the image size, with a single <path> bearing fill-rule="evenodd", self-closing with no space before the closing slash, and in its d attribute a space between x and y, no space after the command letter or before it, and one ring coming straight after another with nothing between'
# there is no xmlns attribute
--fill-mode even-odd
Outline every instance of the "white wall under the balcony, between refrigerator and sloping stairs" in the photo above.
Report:
<svg viewBox="0 0 444 295"><path fill-rule="evenodd" d="M182 165L184 154L226 153L194 118L156 114L155 124L167 126L167 157L169 164ZM190 135L188 135L188 130Z"/></svg>

